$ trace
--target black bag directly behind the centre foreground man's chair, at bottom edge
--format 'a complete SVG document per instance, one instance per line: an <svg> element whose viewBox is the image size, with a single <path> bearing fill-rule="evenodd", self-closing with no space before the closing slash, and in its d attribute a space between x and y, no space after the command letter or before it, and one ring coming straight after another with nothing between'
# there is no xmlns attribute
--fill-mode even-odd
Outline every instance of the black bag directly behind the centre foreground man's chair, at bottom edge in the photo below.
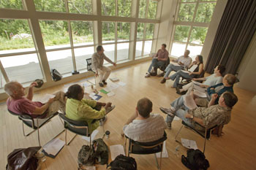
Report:
<svg viewBox="0 0 256 170"><path fill-rule="evenodd" d="M107 169L111 170L137 170L137 163L134 158L118 155L114 161L110 162Z"/></svg>

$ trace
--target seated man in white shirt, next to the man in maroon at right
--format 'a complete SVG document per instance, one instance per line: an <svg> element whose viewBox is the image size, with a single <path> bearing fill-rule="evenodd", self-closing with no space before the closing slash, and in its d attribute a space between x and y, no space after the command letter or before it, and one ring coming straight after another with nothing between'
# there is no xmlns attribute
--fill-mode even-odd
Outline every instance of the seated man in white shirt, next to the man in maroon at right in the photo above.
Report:
<svg viewBox="0 0 256 170"><path fill-rule="evenodd" d="M181 69L187 69L192 62L192 58L189 57L189 50L186 50L184 55L181 55L178 59L172 60L173 63L178 63L179 66L174 65L173 63L169 63L169 65L165 69L165 76L164 78L168 77L170 72L175 71L178 72L178 70Z"/></svg>

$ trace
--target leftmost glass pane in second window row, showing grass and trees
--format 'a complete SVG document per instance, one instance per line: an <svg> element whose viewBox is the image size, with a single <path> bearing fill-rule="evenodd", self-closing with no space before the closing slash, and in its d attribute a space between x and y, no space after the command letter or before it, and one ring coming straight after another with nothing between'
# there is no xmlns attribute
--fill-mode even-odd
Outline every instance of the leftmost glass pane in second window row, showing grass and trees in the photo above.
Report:
<svg viewBox="0 0 256 170"><path fill-rule="evenodd" d="M28 20L0 19L0 54L35 50Z"/></svg>

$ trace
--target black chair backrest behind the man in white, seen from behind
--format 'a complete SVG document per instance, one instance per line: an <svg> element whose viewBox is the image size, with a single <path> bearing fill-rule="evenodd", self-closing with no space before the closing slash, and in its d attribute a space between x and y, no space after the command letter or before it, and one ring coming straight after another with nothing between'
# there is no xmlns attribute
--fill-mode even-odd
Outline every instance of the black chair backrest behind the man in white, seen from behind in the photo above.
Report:
<svg viewBox="0 0 256 170"><path fill-rule="evenodd" d="M162 151L163 142L167 139L166 133L162 138L154 142L136 142L129 139L129 152L134 154L152 154Z"/></svg>

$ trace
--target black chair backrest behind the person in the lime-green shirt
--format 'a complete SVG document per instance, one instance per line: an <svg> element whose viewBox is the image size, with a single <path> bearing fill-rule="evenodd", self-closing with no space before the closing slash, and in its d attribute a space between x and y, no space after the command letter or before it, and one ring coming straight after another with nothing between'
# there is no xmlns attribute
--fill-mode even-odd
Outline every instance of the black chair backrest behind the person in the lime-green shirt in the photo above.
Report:
<svg viewBox="0 0 256 170"><path fill-rule="evenodd" d="M59 117L64 120L64 128L82 136L89 136L89 126L84 120L71 120L63 113L59 113Z"/></svg>

